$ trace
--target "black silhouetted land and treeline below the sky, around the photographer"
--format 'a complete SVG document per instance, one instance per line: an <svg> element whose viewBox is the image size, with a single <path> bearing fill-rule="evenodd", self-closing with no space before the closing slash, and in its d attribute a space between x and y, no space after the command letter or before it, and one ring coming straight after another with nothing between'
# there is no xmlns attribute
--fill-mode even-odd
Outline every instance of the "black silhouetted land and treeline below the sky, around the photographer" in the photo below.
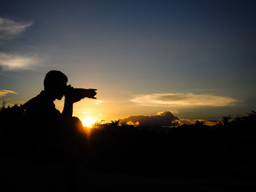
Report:
<svg viewBox="0 0 256 192"><path fill-rule="evenodd" d="M1 191L256 190L256 112L212 127L110 123L74 136L80 155L56 163L26 158L26 137L14 117L1 119L7 122L0 134ZM41 152L53 155L48 150Z"/></svg>

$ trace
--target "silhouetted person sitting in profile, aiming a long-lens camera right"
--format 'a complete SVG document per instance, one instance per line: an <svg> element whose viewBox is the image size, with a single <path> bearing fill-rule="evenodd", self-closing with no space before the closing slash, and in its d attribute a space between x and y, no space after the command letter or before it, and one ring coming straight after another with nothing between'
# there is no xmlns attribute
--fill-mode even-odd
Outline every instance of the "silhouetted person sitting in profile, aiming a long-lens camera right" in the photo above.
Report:
<svg viewBox="0 0 256 192"><path fill-rule="evenodd" d="M83 96L75 95L75 89L67 85L67 76L59 71L50 71L44 80L44 91L24 104L26 137L29 155L35 161L63 161L69 148L77 139L77 128L82 124L72 118L73 104ZM96 89L88 89L86 97L94 98ZM64 110L56 110L53 101L65 97ZM68 150L68 152L67 152ZM70 154L68 154L70 155Z"/></svg>

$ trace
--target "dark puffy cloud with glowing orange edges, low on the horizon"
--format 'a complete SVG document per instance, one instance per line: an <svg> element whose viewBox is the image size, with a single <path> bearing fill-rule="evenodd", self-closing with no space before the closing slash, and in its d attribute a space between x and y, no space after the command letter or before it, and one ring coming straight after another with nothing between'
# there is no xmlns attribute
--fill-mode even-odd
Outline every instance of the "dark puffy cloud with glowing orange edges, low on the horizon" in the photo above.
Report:
<svg viewBox="0 0 256 192"><path fill-rule="evenodd" d="M174 116L170 111L159 112L154 116L136 115L119 120L122 125L135 126L178 126L178 117Z"/></svg>

